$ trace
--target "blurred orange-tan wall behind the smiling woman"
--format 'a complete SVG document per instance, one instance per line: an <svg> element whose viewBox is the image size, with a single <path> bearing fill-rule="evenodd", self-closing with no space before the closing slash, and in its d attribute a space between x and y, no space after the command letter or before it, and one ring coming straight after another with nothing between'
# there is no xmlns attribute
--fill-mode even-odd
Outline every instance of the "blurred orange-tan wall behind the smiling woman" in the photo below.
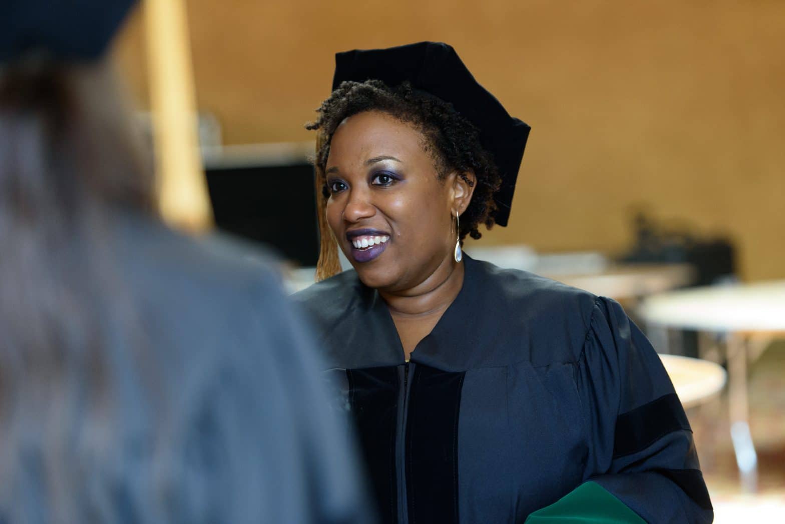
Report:
<svg viewBox="0 0 785 524"><path fill-rule="evenodd" d="M785 278L781 0L189 0L199 109L225 143L310 140L333 54L451 43L532 126L511 227L481 242L624 249L630 210L729 235L743 278ZM116 54L147 104L143 25Z"/></svg>

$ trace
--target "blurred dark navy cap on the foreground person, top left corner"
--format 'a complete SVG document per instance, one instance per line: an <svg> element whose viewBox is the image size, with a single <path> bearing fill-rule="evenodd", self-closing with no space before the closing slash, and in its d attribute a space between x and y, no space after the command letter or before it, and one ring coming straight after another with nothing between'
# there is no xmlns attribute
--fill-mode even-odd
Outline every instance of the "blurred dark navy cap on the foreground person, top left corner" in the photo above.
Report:
<svg viewBox="0 0 785 524"><path fill-rule="evenodd" d="M103 56L136 0L0 0L0 64L42 55L58 62Z"/></svg>

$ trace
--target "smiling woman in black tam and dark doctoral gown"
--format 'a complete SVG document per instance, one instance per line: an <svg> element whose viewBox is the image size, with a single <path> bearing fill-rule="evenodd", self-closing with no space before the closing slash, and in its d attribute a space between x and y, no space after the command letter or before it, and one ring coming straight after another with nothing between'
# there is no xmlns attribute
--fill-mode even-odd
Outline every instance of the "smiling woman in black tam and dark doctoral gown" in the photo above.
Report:
<svg viewBox="0 0 785 524"><path fill-rule="evenodd" d="M295 295L383 522L710 522L692 432L615 301L462 255L505 226L529 127L455 51L338 53L319 275ZM327 275L326 275L327 274Z"/></svg>

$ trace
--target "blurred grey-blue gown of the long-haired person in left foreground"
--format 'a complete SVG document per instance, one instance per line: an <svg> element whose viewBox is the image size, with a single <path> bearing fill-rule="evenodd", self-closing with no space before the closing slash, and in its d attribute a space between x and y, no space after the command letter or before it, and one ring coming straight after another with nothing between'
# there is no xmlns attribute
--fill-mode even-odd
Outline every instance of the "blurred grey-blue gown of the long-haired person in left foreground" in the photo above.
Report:
<svg viewBox="0 0 785 524"><path fill-rule="evenodd" d="M135 214L108 231L111 343L66 358L40 409L35 377L16 391L0 522L371 522L266 257Z"/></svg>

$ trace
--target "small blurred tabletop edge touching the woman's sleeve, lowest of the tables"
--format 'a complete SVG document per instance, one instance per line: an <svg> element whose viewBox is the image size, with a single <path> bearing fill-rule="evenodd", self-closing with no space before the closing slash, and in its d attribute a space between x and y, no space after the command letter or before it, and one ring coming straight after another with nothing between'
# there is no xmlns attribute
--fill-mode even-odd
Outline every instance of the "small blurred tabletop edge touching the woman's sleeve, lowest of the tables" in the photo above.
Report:
<svg viewBox="0 0 785 524"><path fill-rule="evenodd" d="M659 358L663 359L663 366L685 409L711 400L725 386L727 375L719 364L677 355L659 355Z"/></svg>

